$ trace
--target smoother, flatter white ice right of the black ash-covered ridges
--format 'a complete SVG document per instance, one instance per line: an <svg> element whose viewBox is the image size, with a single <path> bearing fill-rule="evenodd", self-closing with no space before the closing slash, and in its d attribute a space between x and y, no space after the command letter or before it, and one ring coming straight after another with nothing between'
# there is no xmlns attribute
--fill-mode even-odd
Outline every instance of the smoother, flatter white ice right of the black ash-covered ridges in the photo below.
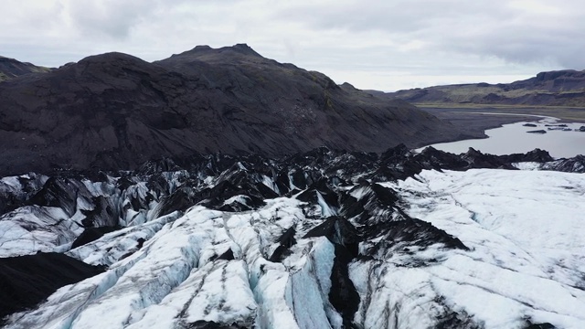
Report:
<svg viewBox="0 0 585 329"><path fill-rule="evenodd" d="M391 284L405 298L417 293L426 296L421 302L441 298L441 304L473 314L485 328L520 328L527 319L585 327L585 202L580 202L585 201L585 176L423 171L386 186L404 197L410 216L471 249L450 250L440 264L419 269L381 265L388 267L383 280L393 277ZM363 271L354 266L355 275Z"/></svg>

